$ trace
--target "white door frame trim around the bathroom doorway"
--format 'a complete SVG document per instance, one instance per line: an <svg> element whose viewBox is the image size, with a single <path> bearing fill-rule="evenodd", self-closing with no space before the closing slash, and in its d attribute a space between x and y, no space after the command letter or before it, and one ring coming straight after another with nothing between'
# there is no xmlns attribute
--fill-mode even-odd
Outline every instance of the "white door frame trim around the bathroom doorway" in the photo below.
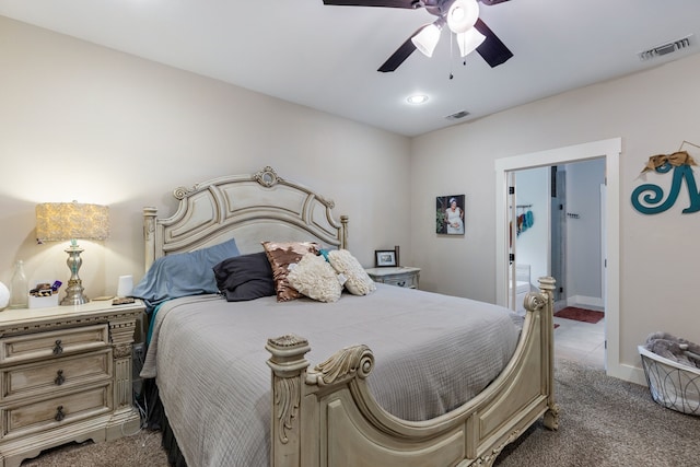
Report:
<svg viewBox="0 0 700 467"><path fill-rule="evenodd" d="M605 366L610 376L630 381L630 370L620 365L620 153L622 139L611 138L583 144L498 159L495 165L495 301L508 306L508 176L510 172L605 157L607 197L605 209L607 273L605 276Z"/></svg>

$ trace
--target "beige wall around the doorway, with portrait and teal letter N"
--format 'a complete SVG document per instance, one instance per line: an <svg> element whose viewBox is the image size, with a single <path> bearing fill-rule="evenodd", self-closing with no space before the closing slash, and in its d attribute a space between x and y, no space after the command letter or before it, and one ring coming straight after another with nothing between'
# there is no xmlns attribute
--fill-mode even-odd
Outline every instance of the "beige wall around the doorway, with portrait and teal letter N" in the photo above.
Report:
<svg viewBox="0 0 700 467"><path fill-rule="evenodd" d="M643 215L630 202L651 155L674 152L684 140L700 144L699 73L700 55L695 55L416 138L411 243L413 260L423 268L421 285L495 300L495 160L621 137L620 364L640 366L637 345L651 331L700 341L695 293L700 213L681 213L689 206L687 187L664 213ZM700 150L684 149L700 160ZM663 185L669 178L653 174L648 180ZM464 238L433 232L434 197L444 192L467 196Z"/></svg>

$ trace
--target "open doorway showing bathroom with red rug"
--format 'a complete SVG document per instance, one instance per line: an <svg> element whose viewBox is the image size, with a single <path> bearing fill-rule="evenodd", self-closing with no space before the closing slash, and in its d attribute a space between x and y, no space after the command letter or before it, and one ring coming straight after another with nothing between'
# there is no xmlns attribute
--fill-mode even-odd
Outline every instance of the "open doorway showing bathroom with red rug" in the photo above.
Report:
<svg viewBox="0 0 700 467"><path fill-rule="evenodd" d="M605 364L604 184L603 157L514 173L515 268L532 271L532 288L541 276L557 279L555 312L561 316L555 315L555 354L599 367Z"/></svg>

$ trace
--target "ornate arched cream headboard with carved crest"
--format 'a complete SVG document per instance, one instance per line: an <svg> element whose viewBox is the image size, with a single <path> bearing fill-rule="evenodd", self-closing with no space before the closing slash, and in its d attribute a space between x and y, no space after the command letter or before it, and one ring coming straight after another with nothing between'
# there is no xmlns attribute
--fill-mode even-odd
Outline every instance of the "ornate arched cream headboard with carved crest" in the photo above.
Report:
<svg viewBox="0 0 700 467"><path fill-rule="evenodd" d="M145 269L161 256L184 253L235 237L241 253L262 250L262 241L314 240L347 247L348 217L338 223L335 203L288 182L270 166L253 175L234 175L179 187L177 211L159 219L156 208L143 208Z"/></svg>

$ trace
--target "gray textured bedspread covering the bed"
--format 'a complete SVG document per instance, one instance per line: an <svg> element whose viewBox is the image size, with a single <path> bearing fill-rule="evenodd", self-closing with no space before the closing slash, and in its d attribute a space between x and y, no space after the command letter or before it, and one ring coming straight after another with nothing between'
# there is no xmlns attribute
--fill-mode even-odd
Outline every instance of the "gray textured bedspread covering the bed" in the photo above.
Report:
<svg viewBox="0 0 700 467"><path fill-rule="evenodd" d="M269 337L308 339L312 367L346 346L375 355L380 405L425 420L464 404L513 354L522 318L500 306L377 284L336 303L177 299L159 311L142 377L160 397L189 467L269 466Z"/></svg>

